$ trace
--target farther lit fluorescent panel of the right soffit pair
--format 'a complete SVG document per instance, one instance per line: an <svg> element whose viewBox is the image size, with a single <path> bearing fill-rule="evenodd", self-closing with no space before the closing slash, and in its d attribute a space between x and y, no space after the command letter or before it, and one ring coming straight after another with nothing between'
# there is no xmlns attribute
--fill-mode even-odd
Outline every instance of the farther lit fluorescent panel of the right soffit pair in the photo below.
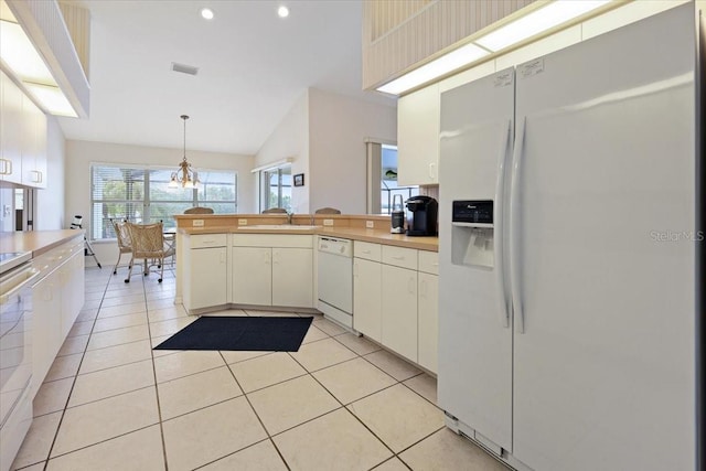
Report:
<svg viewBox="0 0 706 471"><path fill-rule="evenodd" d="M399 95L403 92L478 61L488 54L490 54L488 51L477 46L475 44L467 44L422 65L415 71L409 72L408 74L403 75L399 78L394 79L388 84L383 85L377 88L377 90Z"/></svg>

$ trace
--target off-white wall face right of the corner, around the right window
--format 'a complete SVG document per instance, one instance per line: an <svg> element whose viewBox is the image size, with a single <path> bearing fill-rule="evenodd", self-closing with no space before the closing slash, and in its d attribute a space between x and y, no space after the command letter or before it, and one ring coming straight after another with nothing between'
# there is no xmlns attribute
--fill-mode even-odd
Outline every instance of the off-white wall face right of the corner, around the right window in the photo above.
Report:
<svg viewBox="0 0 706 471"><path fill-rule="evenodd" d="M365 138L397 141L397 108L309 89L309 200L365 214Z"/></svg>

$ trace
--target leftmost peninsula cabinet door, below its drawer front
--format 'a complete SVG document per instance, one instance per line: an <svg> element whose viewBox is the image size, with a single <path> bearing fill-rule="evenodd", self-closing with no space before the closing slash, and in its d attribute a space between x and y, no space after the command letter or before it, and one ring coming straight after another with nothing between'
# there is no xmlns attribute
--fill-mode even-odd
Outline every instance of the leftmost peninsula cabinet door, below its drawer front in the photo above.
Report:
<svg viewBox="0 0 706 471"><path fill-rule="evenodd" d="M186 309L200 309L225 304L227 288L226 248L192 248L190 264L191 283Z"/></svg>

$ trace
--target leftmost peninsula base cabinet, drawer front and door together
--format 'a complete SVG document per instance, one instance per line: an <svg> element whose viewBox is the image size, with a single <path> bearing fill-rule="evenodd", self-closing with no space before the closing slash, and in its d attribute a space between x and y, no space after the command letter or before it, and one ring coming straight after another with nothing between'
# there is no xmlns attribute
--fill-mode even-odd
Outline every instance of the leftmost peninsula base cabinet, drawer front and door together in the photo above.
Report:
<svg viewBox="0 0 706 471"><path fill-rule="evenodd" d="M184 307L188 310L227 303L226 234L199 234L184 238Z"/></svg>

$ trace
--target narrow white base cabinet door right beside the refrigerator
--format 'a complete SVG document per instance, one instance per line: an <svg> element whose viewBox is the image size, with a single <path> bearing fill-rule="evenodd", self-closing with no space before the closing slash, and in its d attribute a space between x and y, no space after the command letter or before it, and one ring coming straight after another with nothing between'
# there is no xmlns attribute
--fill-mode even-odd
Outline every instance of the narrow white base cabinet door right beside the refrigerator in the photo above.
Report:
<svg viewBox="0 0 706 471"><path fill-rule="evenodd" d="M437 373L439 350L439 277L419 274L419 364Z"/></svg>

